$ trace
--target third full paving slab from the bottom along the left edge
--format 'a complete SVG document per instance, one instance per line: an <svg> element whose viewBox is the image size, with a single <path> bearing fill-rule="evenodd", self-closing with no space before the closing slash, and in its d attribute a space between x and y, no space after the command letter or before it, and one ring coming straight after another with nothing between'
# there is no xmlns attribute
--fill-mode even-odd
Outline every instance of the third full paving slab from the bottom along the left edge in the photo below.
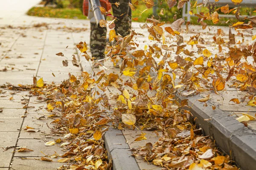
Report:
<svg viewBox="0 0 256 170"><path fill-rule="evenodd" d="M0 119L0 132L19 131L23 119Z"/></svg>

